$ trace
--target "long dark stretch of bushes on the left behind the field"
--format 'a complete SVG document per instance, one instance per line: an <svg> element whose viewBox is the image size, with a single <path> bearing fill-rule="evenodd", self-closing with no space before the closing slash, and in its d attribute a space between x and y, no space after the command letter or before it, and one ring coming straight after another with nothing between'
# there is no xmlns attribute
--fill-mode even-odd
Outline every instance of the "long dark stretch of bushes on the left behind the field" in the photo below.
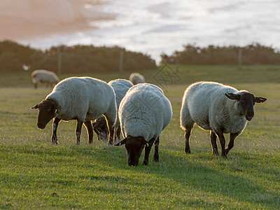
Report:
<svg viewBox="0 0 280 210"><path fill-rule="evenodd" d="M22 66L29 66L30 70L48 69L57 72L59 57L62 73L117 72L120 68L120 53L123 54L123 71L156 67L155 60L149 55L118 46L58 45L40 50L5 40L0 41L0 72L23 71Z"/></svg>

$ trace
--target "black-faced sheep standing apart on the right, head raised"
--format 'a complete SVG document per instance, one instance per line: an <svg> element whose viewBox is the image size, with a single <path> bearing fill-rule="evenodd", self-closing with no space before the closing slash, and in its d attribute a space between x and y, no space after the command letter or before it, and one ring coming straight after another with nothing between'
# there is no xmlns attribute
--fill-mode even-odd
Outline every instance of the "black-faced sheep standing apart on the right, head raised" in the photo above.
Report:
<svg viewBox="0 0 280 210"><path fill-rule="evenodd" d="M254 116L253 106L267 99L255 97L246 90L214 82L197 82L190 85L181 106L180 125L185 130L185 152L190 153L190 133L195 123L204 130L210 130L212 154L218 155L216 138L220 140L222 154L226 158L234 145L235 138L246 127L247 120ZM223 134L230 133L228 147L225 148Z"/></svg>

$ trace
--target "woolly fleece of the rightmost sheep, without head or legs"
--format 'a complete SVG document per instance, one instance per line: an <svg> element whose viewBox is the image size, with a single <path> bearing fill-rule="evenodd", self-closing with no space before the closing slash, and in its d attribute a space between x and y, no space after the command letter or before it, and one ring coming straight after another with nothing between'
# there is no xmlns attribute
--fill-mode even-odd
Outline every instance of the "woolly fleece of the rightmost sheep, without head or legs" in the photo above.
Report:
<svg viewBox="0 0 280 210"><path fill-rule="evenodd" d="M237 102L225 97L225 93L230 92L239 93L234 87L220 83L198 82L190 85L183 96L181 128L186 130L186 127L196 123L202 129L214 132L221 128L224 133L244 130L247 121L239 115Z"/></svg>

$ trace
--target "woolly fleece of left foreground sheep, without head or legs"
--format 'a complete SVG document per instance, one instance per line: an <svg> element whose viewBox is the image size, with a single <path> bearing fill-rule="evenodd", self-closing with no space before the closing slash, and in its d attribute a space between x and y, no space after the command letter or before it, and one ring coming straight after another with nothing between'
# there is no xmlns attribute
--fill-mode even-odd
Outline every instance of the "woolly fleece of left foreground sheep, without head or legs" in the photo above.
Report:
<svg viewBox="0 0 280 210"><path fill-rule="evenodd" d="M47 99L57 101L57 117L62 120L94 120L109 113L113 123L116 122L115 93L102 80L90 77L66 78L55 85Z"/></svg>

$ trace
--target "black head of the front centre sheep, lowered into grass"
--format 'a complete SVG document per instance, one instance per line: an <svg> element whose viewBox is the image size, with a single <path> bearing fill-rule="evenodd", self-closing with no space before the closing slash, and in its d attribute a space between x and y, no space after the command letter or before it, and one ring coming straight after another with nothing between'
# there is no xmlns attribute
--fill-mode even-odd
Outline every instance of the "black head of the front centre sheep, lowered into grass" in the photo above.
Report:
<svg viewBox="0 0 280 210"><path fill-rule="evenodd" d="M146 141L143 137L128 136L123 139L123 141L120 141L119 144L115 144L115 146L121 146L123 144L125 144L125 148L127 150L128 165L137 166L141 153L146 144L148 144L148 141Z"/></svg>

